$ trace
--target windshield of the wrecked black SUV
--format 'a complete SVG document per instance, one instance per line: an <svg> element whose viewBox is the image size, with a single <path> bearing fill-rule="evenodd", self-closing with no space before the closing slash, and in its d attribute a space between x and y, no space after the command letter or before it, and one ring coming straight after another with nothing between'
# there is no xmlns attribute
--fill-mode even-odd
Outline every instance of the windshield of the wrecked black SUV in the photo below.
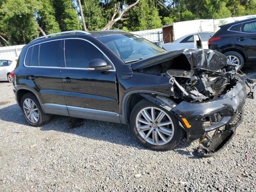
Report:
<svg viewBox="0 0 256 192"><path fill-rule="evenodd" d="M98 37L125 63L148 58L164 52L154 43L133 34L118 34Z"/></svg>

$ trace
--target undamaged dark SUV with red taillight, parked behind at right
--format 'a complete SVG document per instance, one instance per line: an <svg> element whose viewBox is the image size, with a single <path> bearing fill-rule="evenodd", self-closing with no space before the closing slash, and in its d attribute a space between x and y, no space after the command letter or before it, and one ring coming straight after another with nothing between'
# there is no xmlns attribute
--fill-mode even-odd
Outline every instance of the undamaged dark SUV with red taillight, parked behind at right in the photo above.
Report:
<svg viewBox="0 0 256 192"><path fill-rule="evenodd" d="M239 69L245 62L256 61L256 18L220 26L208 44L209 49L223 53L228 63Z"/></svg>

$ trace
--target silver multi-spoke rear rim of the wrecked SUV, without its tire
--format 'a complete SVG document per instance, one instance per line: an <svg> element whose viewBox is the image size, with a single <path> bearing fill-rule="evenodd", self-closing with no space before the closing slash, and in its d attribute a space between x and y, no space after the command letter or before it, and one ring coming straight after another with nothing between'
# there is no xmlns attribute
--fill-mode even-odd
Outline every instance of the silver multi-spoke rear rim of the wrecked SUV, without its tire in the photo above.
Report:
<svg viewBox="0 0 256 192"><path fill-rule="evenodd" d="M25 99L23 103L23 110L30 122L32 123L38 122L39 120L38 108L33 100L29 98Z"/></svg>

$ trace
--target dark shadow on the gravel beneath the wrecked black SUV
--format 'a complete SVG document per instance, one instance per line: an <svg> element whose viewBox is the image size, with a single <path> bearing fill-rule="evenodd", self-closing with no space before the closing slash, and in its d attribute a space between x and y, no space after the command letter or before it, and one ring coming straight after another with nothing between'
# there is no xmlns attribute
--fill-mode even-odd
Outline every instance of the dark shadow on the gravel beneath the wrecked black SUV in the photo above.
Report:
<svg viewBox="0 0 256 192"><path fill-rule="evenodd" d="M1 108L0 120L30 126L25 121L17 104ZM31 128L33 127L31 126ZM40 130L55 130L94 140L107 141L111 143L136 147L142 150L148 150L137 142L137 140L132 135L132 132L130 131L130 127L124 124L53 115L50 122L43 125ZM183 139L174 149L174 152L191 156L191 152L186 150L189 145L190 144L185 139ZM198 158L198 156L197 154L194 154L194 157L190 158Z"/></svg>

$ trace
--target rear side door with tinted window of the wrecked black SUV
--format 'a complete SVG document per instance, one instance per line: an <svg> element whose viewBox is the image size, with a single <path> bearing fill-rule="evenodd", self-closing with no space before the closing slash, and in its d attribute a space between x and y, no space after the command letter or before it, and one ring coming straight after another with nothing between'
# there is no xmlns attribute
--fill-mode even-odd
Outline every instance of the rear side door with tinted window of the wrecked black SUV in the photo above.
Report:
<svg viewBox="0 0 256 192"><path fill-rule="evenodd" d="M60 74L64 64L63 42L52 40L28 48L26 85L41 98L44 112L68 115Z"/></svg>

